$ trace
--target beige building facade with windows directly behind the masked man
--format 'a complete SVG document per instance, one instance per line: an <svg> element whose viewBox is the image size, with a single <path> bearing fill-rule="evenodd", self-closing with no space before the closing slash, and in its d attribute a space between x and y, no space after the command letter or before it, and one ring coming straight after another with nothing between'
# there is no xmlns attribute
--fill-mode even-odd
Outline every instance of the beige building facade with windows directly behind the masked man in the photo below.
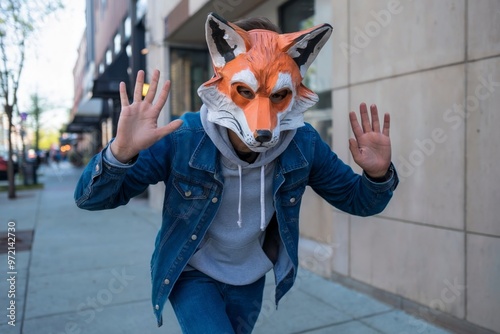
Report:
<svg viewBox="0 0 500 334"><path fill-rule="evenodd" d="M368 218L306 192L301 264L455 332L500 332L500 1L149 0L147 9L146 72L172 80L160 124L199 109L209 12L266 16L285 32L330 23L306 78L320 96L307 121L360 171L348 112L377 104L391 114L401 183ZM161 208L163 186L149 194Z"/></svg>

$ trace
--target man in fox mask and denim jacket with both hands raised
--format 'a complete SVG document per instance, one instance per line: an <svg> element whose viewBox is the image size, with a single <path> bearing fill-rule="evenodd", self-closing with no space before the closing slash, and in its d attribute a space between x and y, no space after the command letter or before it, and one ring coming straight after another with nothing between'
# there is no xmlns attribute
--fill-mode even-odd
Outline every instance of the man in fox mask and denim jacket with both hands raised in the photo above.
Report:
<svg viewBox="0 0 500 334"><path fill-rule="evenodd" d="M389 115L382 130L376 106L350 121L355 174L303 113L318 97L302 84L331 26L280 34L266 19L229 23L210 14L206 37L214 77L198 93L200 112L164 127L156 102L159 72L133 103L120 84L116 138L96 155L75 191L84 209L126 204L149 184L166 185L163 222L151 259L158 325L169 298L185 333L249 333L262 304L265 274L274 269L276 303L298 270L299 208L307 185L335 207L367 216L381 212L397 185Z"/></svg>

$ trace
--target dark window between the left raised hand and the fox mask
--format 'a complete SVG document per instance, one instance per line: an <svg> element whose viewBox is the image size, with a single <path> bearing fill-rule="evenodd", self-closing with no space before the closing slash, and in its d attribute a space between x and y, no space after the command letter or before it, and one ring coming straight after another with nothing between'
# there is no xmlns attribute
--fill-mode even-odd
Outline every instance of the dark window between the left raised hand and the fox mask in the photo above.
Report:
<svg viewBox="0 0 500 334"><path fill-rule="evenodd" d="M187 111L198 111L202 102L197 90L210 79L207 51L172 48L170 50L170 79L175 82L170 91L171 117Z"/></svg>

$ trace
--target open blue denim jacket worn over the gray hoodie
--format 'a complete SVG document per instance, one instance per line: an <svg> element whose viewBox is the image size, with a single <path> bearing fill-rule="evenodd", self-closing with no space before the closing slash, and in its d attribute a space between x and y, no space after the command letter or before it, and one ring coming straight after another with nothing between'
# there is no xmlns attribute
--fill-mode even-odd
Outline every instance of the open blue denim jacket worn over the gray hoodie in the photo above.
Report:
<svg viewBox="0 0 500 334"><path fill-rule="evenodd" d="M97 154L75 190L78 207L103 210L126 204L149 184L165 183L162 226L151 258L152 303L158 326L173 285L210 227L224 195L220 153L206 135L199 113L187 113L182 119L181 128L141 151L129 168L113 166L102 152ZM284 245L277 248L274 265L276 304L297 275L299 209L306 186L342 211L374 215L385 208L398 183L392 165L391 169L388 180L373 182L338 159L312 126L297 130L277 159L273 180L275 233Z"/></svg>

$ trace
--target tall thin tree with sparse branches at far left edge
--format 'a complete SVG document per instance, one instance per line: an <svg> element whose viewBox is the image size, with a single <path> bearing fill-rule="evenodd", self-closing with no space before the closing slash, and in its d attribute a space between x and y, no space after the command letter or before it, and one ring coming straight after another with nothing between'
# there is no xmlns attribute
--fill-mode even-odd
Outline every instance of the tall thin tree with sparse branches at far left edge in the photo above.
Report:
<svg viewBox="0 0 500 334"><path fill-rule="evenodd" d="M50 14L62 8L60 0L0 1L0 99L8 119L8 198L16 198L14 182L14 110L17 110L19 79L25 59L26 41Z"/></svg>

